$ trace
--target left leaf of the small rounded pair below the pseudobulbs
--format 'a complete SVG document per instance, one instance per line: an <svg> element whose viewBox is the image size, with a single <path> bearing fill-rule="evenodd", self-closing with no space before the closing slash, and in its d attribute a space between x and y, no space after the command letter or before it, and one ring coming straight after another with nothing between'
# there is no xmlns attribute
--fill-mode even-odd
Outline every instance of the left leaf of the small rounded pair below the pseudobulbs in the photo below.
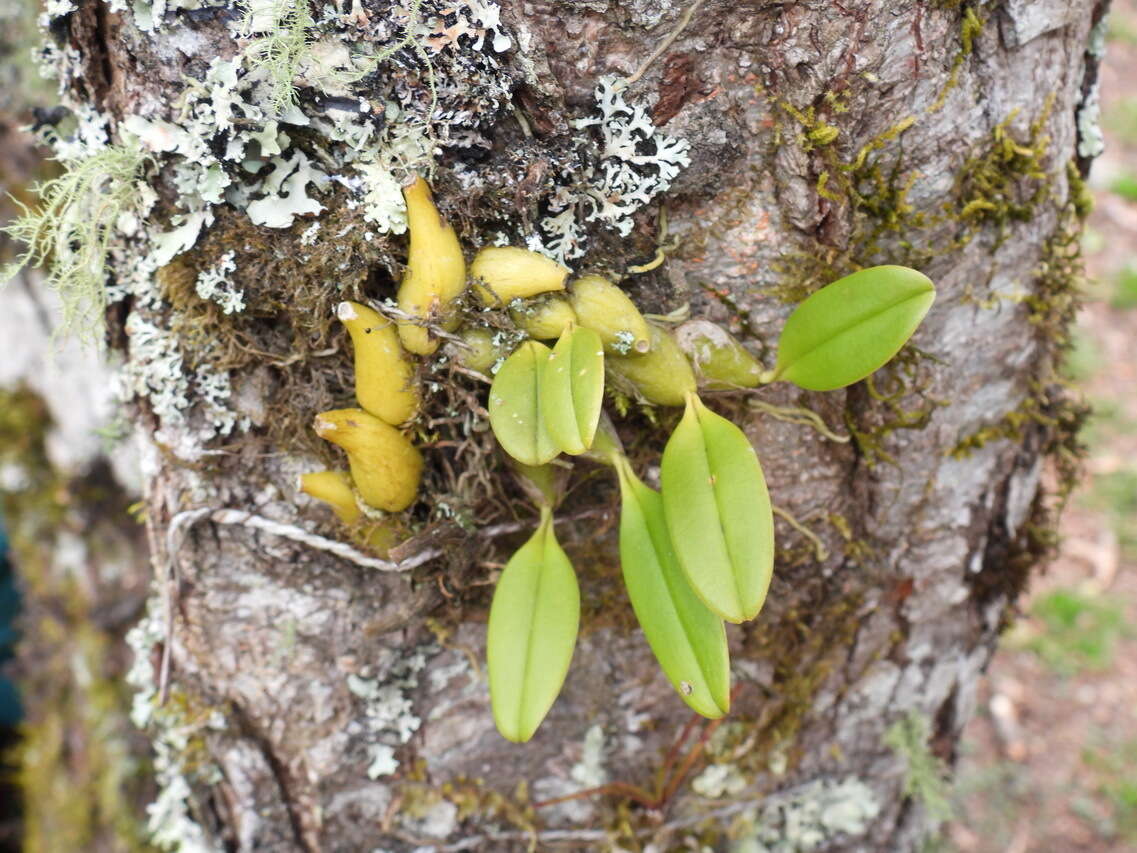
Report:
<svg viewBox="0 0 1137 853"><path fill-rule="evenodd" d="M525 341L493 376L490 386L490 425L503 449L525 465L543 465L557 455L557 446L541 415L541 368L549 348Z"/></svg>

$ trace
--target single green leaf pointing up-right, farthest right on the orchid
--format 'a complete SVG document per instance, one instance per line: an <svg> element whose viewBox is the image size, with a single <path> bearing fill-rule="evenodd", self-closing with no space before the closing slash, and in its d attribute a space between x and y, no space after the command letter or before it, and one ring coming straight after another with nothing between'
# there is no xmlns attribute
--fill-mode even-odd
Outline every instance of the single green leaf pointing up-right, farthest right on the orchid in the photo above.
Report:
<svg viewBox="0 0 1137 853"><path fill-rule="evenodd" d="M899 351L935 299L931 280L906 266L873 266L838 279L789 315L767 379L811 391L853 384Z"/></svg>

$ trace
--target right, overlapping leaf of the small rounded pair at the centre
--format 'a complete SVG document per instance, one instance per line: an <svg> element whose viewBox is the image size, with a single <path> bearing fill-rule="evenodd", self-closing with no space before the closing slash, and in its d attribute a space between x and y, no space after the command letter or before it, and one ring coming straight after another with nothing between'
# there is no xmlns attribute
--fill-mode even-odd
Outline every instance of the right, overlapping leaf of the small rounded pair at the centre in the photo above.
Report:
<svg viewBox="0 0 1137 853"><path fill-rule="evenodd" d="M558 449L592 447L604 401L604 345L591 329L570 326L541 368L541 414Z"/></svg>

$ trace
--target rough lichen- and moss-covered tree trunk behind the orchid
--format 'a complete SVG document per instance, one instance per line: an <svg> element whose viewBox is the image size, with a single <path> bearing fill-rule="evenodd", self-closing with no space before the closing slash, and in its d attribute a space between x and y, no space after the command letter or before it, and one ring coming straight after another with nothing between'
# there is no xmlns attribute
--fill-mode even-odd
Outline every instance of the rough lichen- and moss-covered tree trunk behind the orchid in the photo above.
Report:
<svg viewBox="0 0 1137 853"><path fill-rule="evenodd" d="M1105 2L507 0L500 23L489 0L316 6L254 3L307 47L184 0L83 0L50 27L65 93L141 138L157 192L115 222L107 312L157 571L133 635L164 786L151 829L182 850L916 848L1072 475L1056 361ZM348 44L397 49L348 78L331 71ZM298 473L342 465L312 417L354 405L332 309L393 295L390 179L431 164L467 250L528 241L619 276L662 245L622 282L640 307L689 306L767 366L821 283L883 263L937 283L869 382L707 395L796 520L778 522L765 610L729 630L725 722L688 731L621 589L613 478L575 462L557 530L581 637L534 739L498 736L485 615L532 513L484 387L445 359L422 368L401 570L330 550L349 533L298 494ZM616 421L644 462L675 417Z"/></svg>

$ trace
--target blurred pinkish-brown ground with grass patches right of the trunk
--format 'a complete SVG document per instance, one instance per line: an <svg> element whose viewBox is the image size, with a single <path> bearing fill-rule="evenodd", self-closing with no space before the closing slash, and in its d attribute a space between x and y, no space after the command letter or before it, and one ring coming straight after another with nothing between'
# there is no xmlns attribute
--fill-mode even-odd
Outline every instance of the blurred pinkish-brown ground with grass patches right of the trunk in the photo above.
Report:
<svg viewBox="0 0 1137 853"><path fill-rule="evenodd" d="M1094 409L1057 558L1003 637L944 851L1137 851L1137 2L1113 0L1105 152L1067 376Z"/></svg>

